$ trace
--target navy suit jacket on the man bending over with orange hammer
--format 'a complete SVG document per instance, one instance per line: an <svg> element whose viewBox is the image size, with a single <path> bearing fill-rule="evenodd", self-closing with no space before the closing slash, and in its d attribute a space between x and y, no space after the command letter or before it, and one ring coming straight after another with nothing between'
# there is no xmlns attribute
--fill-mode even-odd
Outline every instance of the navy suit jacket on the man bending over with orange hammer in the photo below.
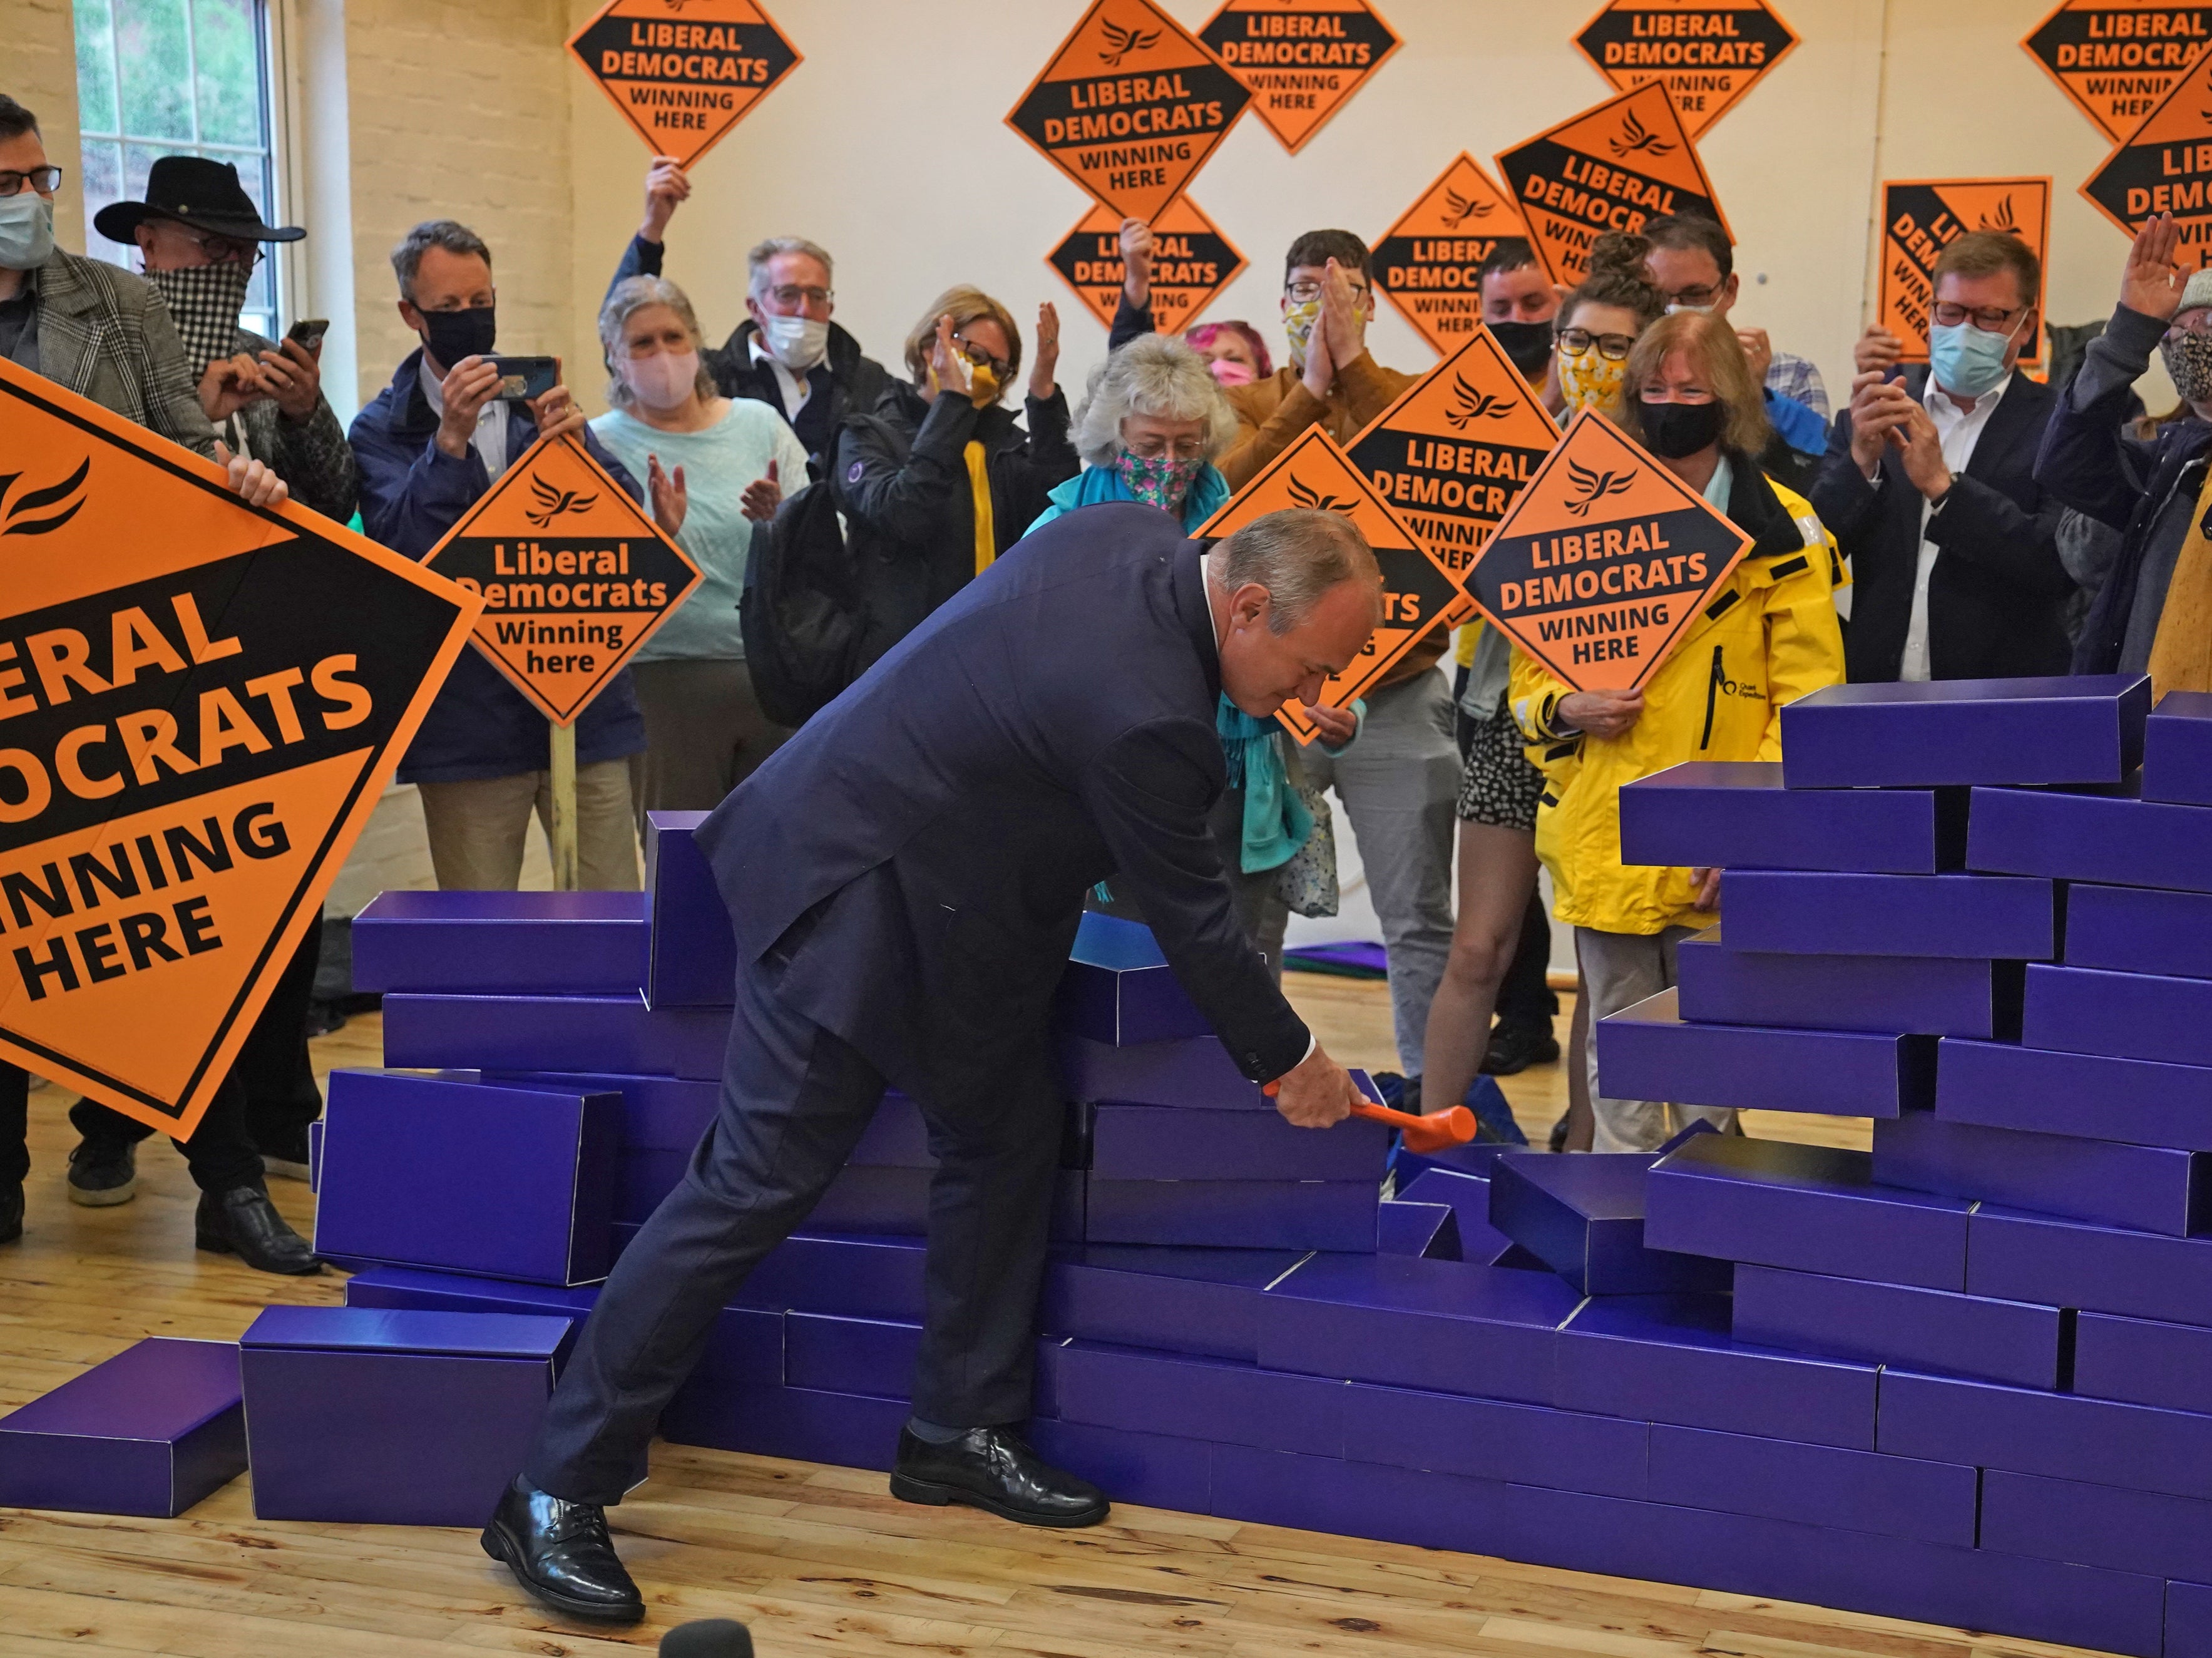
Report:
<svg viewBox="0 0 2212 1658"><path fill-rule="evenodd" d="M701 825L741 966L902 1085L1042 1050L1084 893L1113 875L1245 1077L1307 1030L1237 922L1208 811L1221 670L1201 546L1086 506L942 604Z"/></svg>

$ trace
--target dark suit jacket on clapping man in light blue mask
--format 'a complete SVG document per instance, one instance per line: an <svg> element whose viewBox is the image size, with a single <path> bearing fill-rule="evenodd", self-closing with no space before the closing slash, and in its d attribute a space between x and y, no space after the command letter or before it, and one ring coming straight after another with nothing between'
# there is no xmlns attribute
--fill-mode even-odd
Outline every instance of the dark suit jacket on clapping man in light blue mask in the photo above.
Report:
<svg viewBox="0 0 2212 1658"><path fill-rule="evenodd" d="M1927 371L1907 378L1913 396ZM1982 427L1949 504L1929 522L1940 548L1929 570L1929 672L1936 679L2064 674L2073 657L2066 601L2073 577L2059 562L2059 500L2035 482L2035 451L2053 391L2013 371ZM1874 486L1851 460L1851 413L1829 429L1812 506L1851 559L1851 623L1845 665L1854 681L1891 681L1905 659L1920 566L1922 495L1896 451Z"/></svg>

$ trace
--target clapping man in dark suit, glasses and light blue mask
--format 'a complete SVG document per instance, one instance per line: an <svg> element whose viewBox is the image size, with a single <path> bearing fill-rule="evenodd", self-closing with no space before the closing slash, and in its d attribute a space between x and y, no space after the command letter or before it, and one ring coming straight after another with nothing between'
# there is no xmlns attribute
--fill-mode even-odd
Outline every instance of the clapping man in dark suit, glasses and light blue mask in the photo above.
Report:
<svg viewBox="0 0 2212 1658"><path fill-rule="evenodd" d="M2035 482L2053 393L2017 369L2039 287L2020 237L1966 232L1936 261L1929 371L1896 376L1889 329L1858 343L1812 489L1851 559L1854 681L2066 672L2062 508Z"/></svg>

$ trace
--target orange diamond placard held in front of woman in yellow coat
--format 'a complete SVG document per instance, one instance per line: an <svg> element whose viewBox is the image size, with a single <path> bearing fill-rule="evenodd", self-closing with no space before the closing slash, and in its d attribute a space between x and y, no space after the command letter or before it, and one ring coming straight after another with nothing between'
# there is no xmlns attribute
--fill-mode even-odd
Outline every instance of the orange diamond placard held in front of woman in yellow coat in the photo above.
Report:
<svg viewBox="0 0 2212 1658"><path fill-rule="evenodd" d="M1584 409L1467 579L1482 615L1575 690L1637 690L1752 537Z"/></svg>

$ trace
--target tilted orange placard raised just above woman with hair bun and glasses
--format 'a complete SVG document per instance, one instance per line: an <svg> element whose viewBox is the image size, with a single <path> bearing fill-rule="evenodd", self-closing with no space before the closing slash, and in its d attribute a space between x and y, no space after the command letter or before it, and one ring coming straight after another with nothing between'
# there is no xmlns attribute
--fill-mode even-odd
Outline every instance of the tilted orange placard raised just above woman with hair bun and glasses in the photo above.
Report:
<svg viewBox="0 0 2212 1658"><path fill-rule="evenodd" d="M1666 212L1701 212L1728 230L1674 99L1657 82L1506 150L1498 175L1555 283L1579 283L1590 270L1590 243L1608 230L1641 230Z"/></svg>

